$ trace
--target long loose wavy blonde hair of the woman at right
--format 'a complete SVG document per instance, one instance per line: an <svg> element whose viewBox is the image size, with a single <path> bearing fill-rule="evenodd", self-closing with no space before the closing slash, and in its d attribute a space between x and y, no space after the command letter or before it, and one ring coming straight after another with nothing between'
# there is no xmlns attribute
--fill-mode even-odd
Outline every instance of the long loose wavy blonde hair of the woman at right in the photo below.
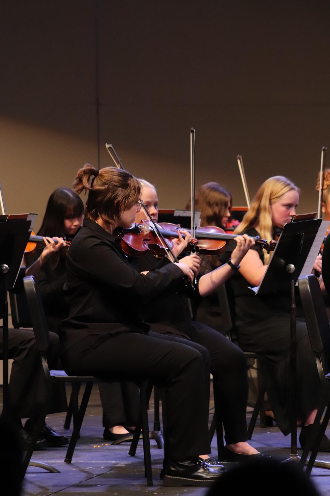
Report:
<svg viewBox="0 0 330 496"><path fill-rule="evenodd" d="M273 224L271 205L276 203L283 194L294 189L300 193L300 189L283 176L274 176L267 179L256 192L251 206L243 217L242 222L236 227L234 234L242 234L248 229L258 225L258 232L263 240L268 242L273 239ZM265 253L265 264L267 265L271 254Z"/></svg>

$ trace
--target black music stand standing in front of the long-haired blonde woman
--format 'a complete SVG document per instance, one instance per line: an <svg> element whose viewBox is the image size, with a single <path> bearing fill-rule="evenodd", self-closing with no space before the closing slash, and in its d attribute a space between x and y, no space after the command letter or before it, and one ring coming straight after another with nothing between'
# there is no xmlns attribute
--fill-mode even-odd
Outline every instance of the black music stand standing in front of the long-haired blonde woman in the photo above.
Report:
<svg viewBox="0 0 330 496"><path fill-rule="evenodd" d="M285 224L271 261L256 295L269 294L290 287L290 413L291 453L287 461L299 460L297 454L297 396L296 396L296 305L295 285L305 265L322 219Z"/></svg>

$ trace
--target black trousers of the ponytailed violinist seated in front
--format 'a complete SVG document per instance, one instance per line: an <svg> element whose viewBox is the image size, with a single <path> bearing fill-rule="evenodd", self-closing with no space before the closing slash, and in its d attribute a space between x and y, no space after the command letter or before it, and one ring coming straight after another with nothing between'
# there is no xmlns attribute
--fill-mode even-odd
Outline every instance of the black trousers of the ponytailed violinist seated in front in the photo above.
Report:
<svg viewBox="0 0 330 496"><path fill-rule="evenodd" d="M195 349L161 335L90 335L63 353L62 360L67 373L92 374L109 381L149 379L165 388L169 458L211 452L210 361L203 347Z"/></svg>

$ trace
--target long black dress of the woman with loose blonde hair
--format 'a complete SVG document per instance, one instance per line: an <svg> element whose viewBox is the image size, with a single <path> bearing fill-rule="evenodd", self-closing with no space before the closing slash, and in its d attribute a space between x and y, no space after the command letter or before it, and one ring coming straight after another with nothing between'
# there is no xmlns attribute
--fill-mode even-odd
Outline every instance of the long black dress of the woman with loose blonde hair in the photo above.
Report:
<svg viewBox="0 0 330 496"><path fill-rule="evenodd" d="M257 236L251 228L245 233ZM262 248L255 246L264 263ZM230 251L222 255L225 262ZM235 298L237 336L244 351L258 352L267 360L262 363L268 398L283 434L289 434L289 293L273 292L255 296L250 284L239 273L230 279ZM298 304L297 304L298 307ZM297 308L297 418L304 421L320 402L321 392L316 362L301 309Z"/></svg>

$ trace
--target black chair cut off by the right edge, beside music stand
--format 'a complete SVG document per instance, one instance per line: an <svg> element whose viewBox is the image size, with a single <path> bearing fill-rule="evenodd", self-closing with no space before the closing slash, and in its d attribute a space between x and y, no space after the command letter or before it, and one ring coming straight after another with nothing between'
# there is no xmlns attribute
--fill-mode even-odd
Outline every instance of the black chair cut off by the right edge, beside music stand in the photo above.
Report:
<svg viewBox="0 0 330 496"><path fill-rule="evenodd" d="M315 464L320 443L326 432L330 419L330 408L328 406L330 400L330 373L325 354L325 345L329 346L330 344L330 325L320 284L317 278L314 275L301 276L298 279L298 287L305 314L308 335L315 355L322 388L322 398L315 417L313 429L307 438L306 446L300 460L300 463L305 465L308 453L309 451L312 451L306 467L306 473L309 475L312 471L313 465ZM327 409L321 423L322 415L326 407ZM318 463L318 465L320 465L320 463ZM328 466L325 466L325 462L322 462L322 465L320 466L330 468L330 465L327 465Z"/></svg>

